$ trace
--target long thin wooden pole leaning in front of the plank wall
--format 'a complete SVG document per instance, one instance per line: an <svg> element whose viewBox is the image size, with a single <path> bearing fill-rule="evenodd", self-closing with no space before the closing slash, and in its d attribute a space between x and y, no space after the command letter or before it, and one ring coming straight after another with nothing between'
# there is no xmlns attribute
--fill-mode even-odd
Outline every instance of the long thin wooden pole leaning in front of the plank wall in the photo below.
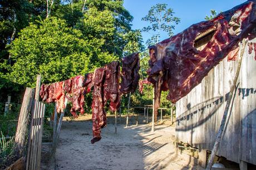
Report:
<svg viewBox="0 0 256 170"><path fill-rule="evenodd" d="M227 105L225 107L225 111L224 111L223 118L222 118L221 123L220 123L220 128L219 128L219 131L218 131L218 134L217 134L217 137L216 137L216 141L214 143L214 147L213 147L213 150L211 151L211 156L210 156L209 162L208 162L207 167L206 167L206 169L208 169L208 170L211 169L211 166L213 166L213 160L214 160L215 154L217 152L217 149L219 147L219 143L221 141L221 137L222 137L223 130L224 130L224 127L225 127L226 119L227 119L227 116L228 116L229 106L230 106L230 103L231 103L231 100L232 100L232 97L233 97L234 89L237 86L237 79L239 77L239 72L240 72L242 59L243 59L243 55L244 55L244 49L245 49L245 45L247 44L247 42L248 41L243 40L242 48L240 48L241 53L240 53L240 58L239 58L239 61L238 61L237 73L235 74L235 78L234 78L232 87L230 88Z"/></svg>

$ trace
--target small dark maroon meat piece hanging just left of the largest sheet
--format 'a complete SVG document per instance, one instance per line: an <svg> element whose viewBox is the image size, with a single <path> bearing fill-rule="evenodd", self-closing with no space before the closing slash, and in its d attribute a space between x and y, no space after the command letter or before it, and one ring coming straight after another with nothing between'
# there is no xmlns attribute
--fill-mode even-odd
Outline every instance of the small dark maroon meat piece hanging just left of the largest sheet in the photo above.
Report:
<svg viewBox="0 0 256 170"><path fill-rule="evenodd" d="M139 53L132 53L122 58L121 88L122 94L134 93L140 79L140 58Z"/></svg>

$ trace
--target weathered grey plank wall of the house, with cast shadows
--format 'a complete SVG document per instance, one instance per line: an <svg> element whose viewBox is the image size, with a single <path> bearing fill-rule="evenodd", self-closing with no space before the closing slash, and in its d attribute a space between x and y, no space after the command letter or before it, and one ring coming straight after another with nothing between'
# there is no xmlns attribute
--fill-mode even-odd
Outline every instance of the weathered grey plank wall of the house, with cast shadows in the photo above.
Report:
<svg viewBox="0 0 256 170"><path fill-rule="evenodd" d="M256 42L253 39L250 42ZM240 76L228 124L218 149L223 156L256 164L256 60L245 48ZM219 129L227 94L237 69L237 61L224 58L208 76L176 106L176 140L211 151Z"/></svg>

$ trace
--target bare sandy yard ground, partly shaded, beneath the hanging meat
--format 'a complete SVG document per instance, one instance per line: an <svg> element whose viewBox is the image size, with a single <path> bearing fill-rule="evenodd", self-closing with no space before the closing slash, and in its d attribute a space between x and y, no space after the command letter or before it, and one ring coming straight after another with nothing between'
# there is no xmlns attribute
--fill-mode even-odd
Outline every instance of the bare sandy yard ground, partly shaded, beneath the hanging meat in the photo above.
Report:
<svg viewBox="0 0 256 170"><path fill-rule="evenodd" d="M145 118L140 118L143 123ZM108 118L102 139L91 144L92 122L86 117L64 119L57 148L57 169L203 169L193 157L174 146L175 124L160 124L151 132L149 124L124 126Z"/></svg>

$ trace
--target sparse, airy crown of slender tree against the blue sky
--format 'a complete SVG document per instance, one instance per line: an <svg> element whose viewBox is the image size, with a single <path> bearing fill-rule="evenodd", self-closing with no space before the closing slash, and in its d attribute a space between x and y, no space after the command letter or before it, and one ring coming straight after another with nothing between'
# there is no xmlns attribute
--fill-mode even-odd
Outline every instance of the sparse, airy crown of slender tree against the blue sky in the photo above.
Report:
<svg viewBox="0 0 256 170"><path fill-rule="evenodd" d="M173 36L173 30L175 25L180 22L180 18L174 17L173 9L168 8L167 4L158 3L150 8L147 15L142 18L142 21L150 23L150 26L144 27L142 31L151 31L154 34L146 42L151 45L159 42L161 31L167 32L170 37Z"/></svg>

